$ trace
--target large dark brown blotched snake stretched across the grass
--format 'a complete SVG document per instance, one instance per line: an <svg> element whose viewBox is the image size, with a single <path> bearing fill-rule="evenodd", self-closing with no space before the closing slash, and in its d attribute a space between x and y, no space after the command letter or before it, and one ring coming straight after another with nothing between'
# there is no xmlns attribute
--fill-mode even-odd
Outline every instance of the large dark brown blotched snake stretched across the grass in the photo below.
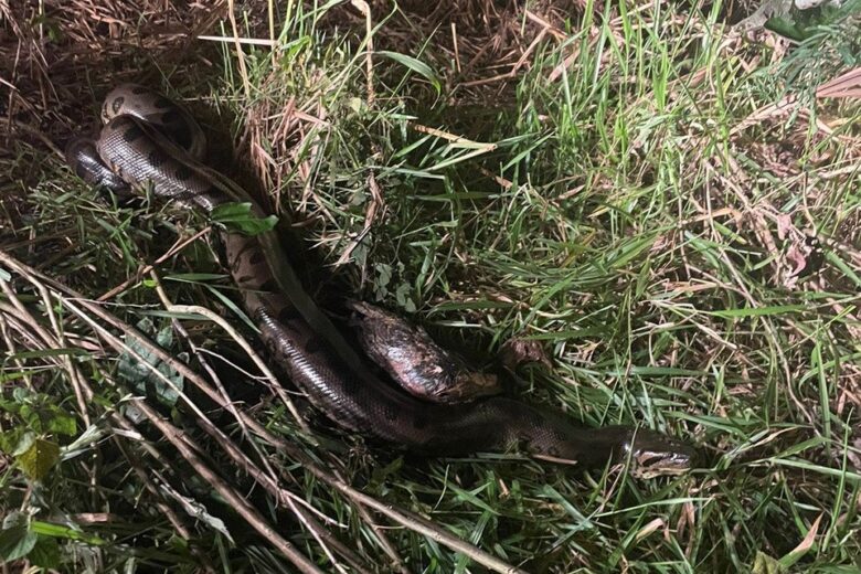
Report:
<svg viewBox="0 0 861 574"><path fill-rule="evenodd" d="M201 162L204 140L193 118L161 94L121 85L105 99L98 137L73 140L66 157L91 183L155 195L206 214L252 203L242 189ZM272 359L334 423L428 455L519 449L578 467L627 460L639 476L688 470L694 449L659 433L626 426L587 428L517 400L491 396L434 404L380 379L302 289L274 231L222 230L230 274Z"/></svg>

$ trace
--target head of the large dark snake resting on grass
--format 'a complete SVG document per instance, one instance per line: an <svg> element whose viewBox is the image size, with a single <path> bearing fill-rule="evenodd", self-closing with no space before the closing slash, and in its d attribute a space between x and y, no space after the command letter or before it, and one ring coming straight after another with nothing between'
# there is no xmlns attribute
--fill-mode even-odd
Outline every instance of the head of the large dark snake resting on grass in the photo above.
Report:
<svg viewBox="0 0 861 574"><path fill-rule="evenodd" d="M630 472L638 478L682 475L698 459L697 449L688 443L647 428L634 431L625 446Z"/></svg>

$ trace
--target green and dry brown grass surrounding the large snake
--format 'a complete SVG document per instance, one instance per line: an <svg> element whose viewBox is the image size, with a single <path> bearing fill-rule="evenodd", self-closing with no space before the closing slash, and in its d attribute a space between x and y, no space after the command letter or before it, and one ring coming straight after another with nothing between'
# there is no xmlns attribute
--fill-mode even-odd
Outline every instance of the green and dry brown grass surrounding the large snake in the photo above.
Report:
<svg viewBox="0 0 861 574"><path fill-rule="evenodd" d="M815 97L859 65L857 14L788 45L735 34L720 3L460 1L455 34L445 14L374 3L369 76L353 8L259 2L235 11L234 30L223 12L151 4L147 18L123 4L111 22L107 4L85 2L86 25L59 4L3 8L3 54L26 65L2 76L14 91L0 153L0 538L38 544L26 560L299 567L225 503L220 478L325 572L396 570L391 555L408 572L486 571L440 532L525 572L861 568L861 108ZM231 41L183 44L170 26ZM234 36L275 47L237 53ZM640 481L512 455L416 460L317 419L304 431L243 374L258 371L228 333L167 307L210 307L254 342L209 235L189 241L205 222L106 203L45 144L139 77L184 99L222 136L215 164L293 222L319 299L379 301L477 361L510 338L538 341L552 369L522 370L521 396L592 426L683 437L705 468ZM138 277L147 264L158 273ZM104 294L107 315L78 298ZM244 425L126 325L210 387L220 380ZM198 463L132 408L146 390L120 366L136 353L161 373L151 386L173 385L157 411L200 447ZM64 447L55 466L51 445ZM28 466L24 450L42 456ZM313 511L276 503L253 466ZM18 530L14 511L29 517Z"/></svg>

